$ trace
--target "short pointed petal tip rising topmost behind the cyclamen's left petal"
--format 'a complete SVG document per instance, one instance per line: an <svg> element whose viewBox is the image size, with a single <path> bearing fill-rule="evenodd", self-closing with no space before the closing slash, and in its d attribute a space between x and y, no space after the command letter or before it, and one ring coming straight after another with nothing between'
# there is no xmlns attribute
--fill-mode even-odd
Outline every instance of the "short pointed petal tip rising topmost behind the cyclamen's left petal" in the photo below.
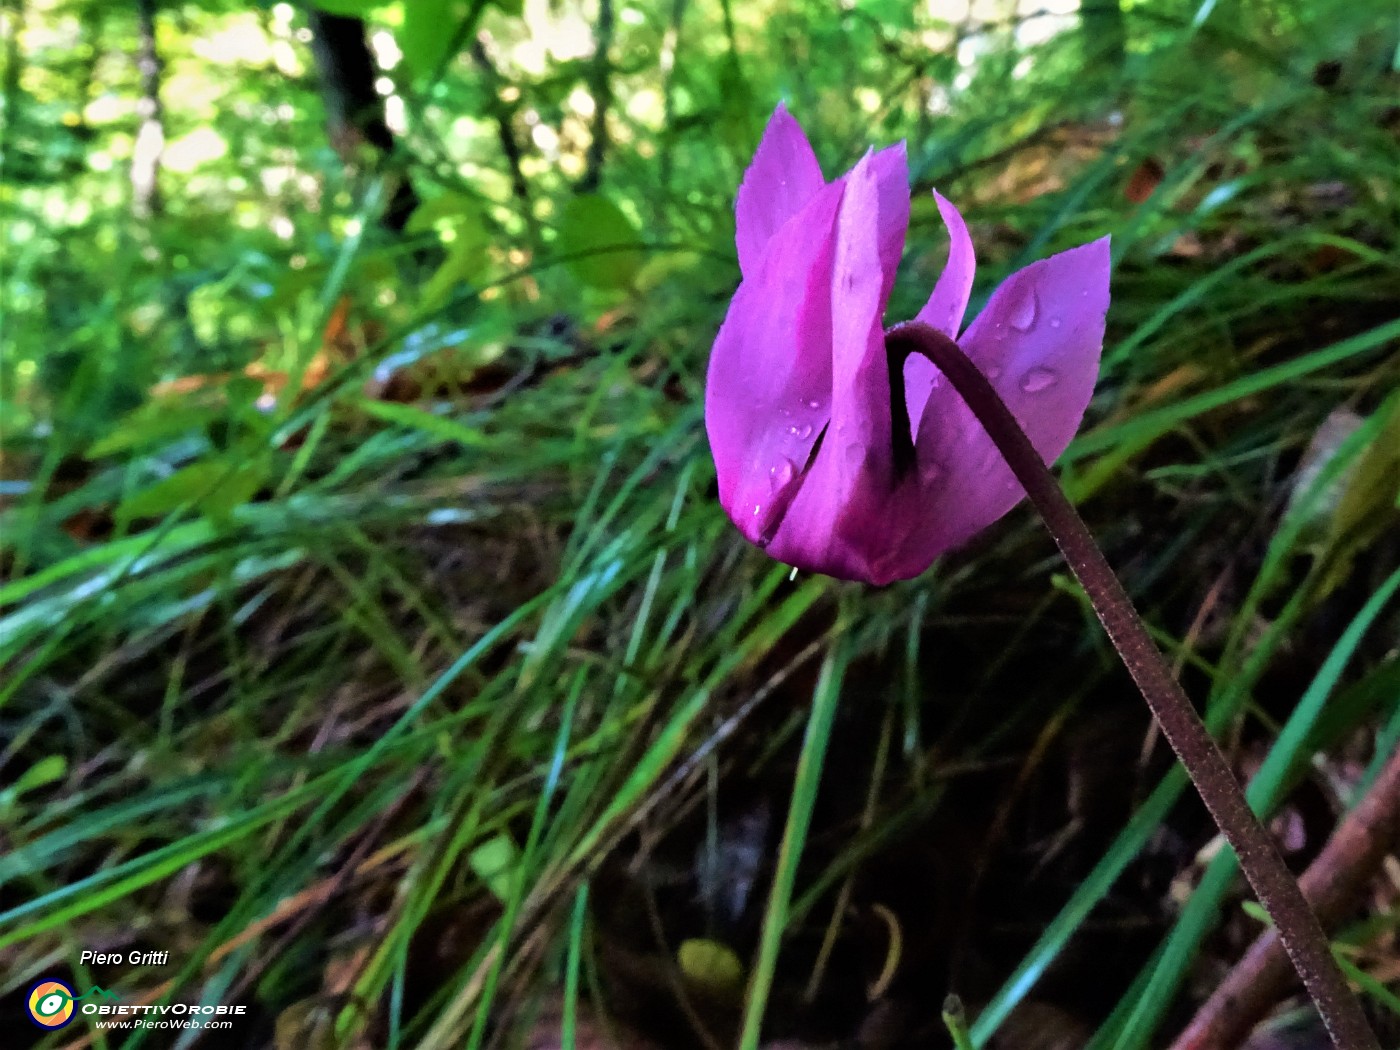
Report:
<svg viewBox="0 0 1400 1050"><path fill-rule="evenodd" d="M773 235L826 185L802 126L783 104L773 111L735 203L739 269L753 276Z"/></svg>

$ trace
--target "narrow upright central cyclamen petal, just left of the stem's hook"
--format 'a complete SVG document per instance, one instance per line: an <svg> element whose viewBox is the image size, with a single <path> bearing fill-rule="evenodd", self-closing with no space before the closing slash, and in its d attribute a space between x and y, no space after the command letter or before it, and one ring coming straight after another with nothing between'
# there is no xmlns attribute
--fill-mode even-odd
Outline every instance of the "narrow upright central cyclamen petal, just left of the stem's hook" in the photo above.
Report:
<svg viewBox="0 0 1400 1050"><path fill-rule="evenodd" d="M769 547L788 564L868 582L888 582L883 561L916 521L909 500L892 498L879 179L872 157L846 178L830 281L830 424Z"/></svg>

